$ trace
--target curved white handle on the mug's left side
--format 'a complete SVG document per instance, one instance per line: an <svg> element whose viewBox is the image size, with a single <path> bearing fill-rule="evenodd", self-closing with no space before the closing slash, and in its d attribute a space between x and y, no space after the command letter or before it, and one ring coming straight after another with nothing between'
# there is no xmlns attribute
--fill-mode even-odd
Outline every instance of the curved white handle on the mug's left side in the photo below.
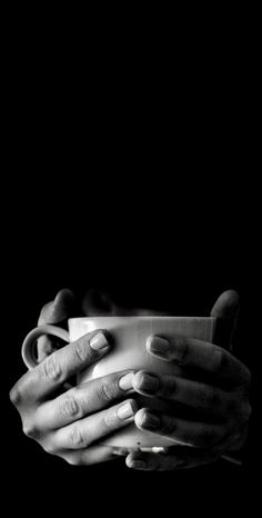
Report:
<svg viewBox="0 0 262 518"><path fill-rule="evenodd" d="M24 338L21 350L23 362L26 363L29 370L32 370L34 367L39 365L36 357L34 343L36 340L42 337L43 335L51 335L53 337L61 338L67 342L70 341L69 332L60 327L50 326L46 323L43 326L39 326L32 329L32 331L30 331Z"/></svg>

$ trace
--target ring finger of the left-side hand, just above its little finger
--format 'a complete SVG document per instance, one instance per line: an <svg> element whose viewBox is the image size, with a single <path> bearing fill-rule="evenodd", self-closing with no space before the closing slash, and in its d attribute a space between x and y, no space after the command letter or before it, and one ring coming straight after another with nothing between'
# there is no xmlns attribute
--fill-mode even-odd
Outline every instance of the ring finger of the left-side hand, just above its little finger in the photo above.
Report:
<svg viewBox="0 0 262 518"><path fill-rule="evenodd" d="M133 399L127 399L114 407L80 419L52 434L51 449L56 451L87 448L112 431L130 425L137 411L138 404Z"/></svg>

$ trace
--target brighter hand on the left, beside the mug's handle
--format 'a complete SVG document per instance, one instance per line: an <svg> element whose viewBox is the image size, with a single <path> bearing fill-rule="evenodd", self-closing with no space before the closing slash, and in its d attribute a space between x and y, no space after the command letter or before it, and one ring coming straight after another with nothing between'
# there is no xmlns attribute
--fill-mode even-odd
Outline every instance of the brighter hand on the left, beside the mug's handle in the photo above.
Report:
<svg viewBox="0 0 262 518"><path fill-rule="evenodd" d="M43 308L39 322L56 323L67 318L64 297L69 293L58 293ZM102 442L103 437L132 422L138 410L133 399L125 399L133 391L130 370L64 389L68 379L99 361L110 349L103 330L89 332L54 352L49 339L42 339L39 365L10 391L24 434L69 464L91 465L115 458L119 451L97 441Z"/></svg>

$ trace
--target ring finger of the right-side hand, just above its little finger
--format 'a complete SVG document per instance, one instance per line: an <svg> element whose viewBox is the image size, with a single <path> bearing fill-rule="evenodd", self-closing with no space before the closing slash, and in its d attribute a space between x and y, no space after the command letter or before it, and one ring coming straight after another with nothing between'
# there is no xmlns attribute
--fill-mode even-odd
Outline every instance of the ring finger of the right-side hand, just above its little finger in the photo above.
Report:
<svg viewBox="0 0 262 518"><path fill-rule="evenodd" d="M220 424L189 421L165 414L160 415L148 408L141 408L137 412L134 422L143 431L196 448L210 448L220 442L229 432Z"/></svg>

